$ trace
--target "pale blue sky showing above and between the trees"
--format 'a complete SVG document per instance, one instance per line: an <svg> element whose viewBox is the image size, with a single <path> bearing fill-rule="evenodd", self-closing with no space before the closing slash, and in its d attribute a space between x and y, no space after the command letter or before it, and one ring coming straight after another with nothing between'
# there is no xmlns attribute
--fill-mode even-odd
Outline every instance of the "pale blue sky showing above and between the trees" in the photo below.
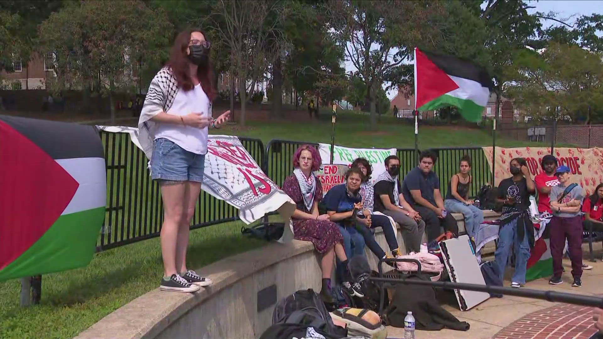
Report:
<svg viewBox="0 0 603 339"><path fill-rule="evenodd" d="M568 18L572 15L575 17L579 17L582 15L591 15L593 13L603 14L603 0L545 0L545 1L528 1L530 6L534 6L535 8L531 8L528 10L529 13L535 13L537 11L549 13L550 11L554 11L558 13L558 17L560 18ZM573 19L575 19L575 17ZM573 21L570 19L570 22ZM551 26L551 25L561 25L555 21L545 20L543 21L543 25ZM346 72L356 71L356 68L352 65L352 62L346 60ZM385 88L385 86L384 86ZM387 93L387 97L390 100L396 96L396 89L390 90Z"/></svg>

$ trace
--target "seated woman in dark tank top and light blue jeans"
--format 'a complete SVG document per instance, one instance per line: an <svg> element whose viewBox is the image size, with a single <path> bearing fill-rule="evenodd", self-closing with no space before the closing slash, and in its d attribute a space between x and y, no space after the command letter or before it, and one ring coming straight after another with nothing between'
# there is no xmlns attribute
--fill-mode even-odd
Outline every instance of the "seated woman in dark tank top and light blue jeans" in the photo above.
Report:
<svg viewBox="0 0 603 339"><path fill-rule="evenodd" d="M459 162L460 172L456 173L448 183L448 192L444 207L450 213L461 213L465 217L465 230L475 240L479 224L484 221L484 212L473 206L469 200L469 187L471 185L471 157L467 154Z"/></svg>

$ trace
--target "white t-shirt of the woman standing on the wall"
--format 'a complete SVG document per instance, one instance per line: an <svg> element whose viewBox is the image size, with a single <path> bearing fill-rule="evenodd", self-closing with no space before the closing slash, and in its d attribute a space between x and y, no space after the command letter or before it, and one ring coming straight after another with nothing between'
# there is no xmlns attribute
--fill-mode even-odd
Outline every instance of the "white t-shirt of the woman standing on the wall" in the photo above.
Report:
<svg viewBox="0 0 603 339"><path fill-rule="evenodd" d="M212 116L212 105L206 93L198 84L193 89L185 91L178 90L169 114L185 116L189 113L200 113L203 116ZM176 145L195 154L207 153L207 127L197 128L175 124L157 124L155 140L165 138L173 141Z"/></svg>

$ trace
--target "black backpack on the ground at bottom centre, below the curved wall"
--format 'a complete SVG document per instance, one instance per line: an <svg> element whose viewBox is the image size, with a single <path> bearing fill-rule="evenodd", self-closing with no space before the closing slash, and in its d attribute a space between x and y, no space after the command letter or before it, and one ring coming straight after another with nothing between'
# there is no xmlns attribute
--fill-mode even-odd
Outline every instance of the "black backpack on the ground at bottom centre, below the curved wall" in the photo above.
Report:
<svg viewBox="0 0 603 339"><path fill-rule="evenodd" d="M295 317L292 317L296 311L302 312L303 316L297 313ZM279 323L295 324L295 321L299 320L300 317L304 320L304 322L297 323L298 325L308 328L310 327L309 324L312 323L321 324L321 328L315 329L326 332L330 335L338 335L337 338L346 337L347 330L333 324L333 320L331 319L329 311L327 311L327 308L324 306L323 300L321 300L318 294L316 294L316 292L314 292L314 290L311 288L308 290L299 290L290 296L281 299L280 302L274 307L272 323L273 326ZM314 320L312 320L312 318L314 318ZM295 326L285 326L285 328L292 327L294 328ZM303 338L305 335L306 332L304 332L302 337L298 338Z"/></svg>

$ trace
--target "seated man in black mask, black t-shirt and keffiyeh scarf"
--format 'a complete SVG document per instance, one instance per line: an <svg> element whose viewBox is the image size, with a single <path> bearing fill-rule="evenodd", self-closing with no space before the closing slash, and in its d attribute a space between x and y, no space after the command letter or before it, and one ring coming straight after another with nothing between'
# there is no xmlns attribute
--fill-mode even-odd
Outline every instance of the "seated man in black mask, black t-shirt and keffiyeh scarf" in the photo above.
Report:
<svg viewBox="0 0 603 339"><path fill-rule="evenodd" d="M377 177L373 186L374 211L390 216L402 227L406 253L418 253L425 232L425 223L402 195L402 187L398 180L400 159L397 156L388 156L385 158L385 169L386 171ZM396 254L402 253L394 253L394 256Z"/></svg>

